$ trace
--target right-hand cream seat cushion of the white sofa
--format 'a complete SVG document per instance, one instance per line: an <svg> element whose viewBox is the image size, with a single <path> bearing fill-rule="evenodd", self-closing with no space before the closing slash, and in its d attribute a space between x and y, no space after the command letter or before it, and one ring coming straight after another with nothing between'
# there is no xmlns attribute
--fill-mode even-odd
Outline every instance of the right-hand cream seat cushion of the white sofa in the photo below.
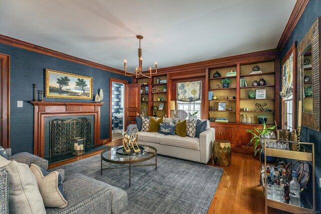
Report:
<svg viewBox="0 0 321 214"><path fill-rule="evenodd" d="M179 135L165 135L159 140L159 144L172 145L187 149L200 150L200 139L196 137L181 137Z"/></svg>

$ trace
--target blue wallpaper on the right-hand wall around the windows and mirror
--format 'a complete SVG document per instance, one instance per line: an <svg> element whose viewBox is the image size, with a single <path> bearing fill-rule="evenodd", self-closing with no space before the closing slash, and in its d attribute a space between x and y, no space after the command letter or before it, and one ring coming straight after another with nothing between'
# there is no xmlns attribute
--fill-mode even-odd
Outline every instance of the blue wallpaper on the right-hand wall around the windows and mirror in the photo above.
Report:
<svg viewBox="0 0 321 214"><path fill-rule="evenodd" d="M309 0L302 16L300 17L298 23L296 24L291 36L287 40L284 48L281 50L280 53L280 62L286 55L287 51L290 49L290 47L293 45L295 41L297 41L297 44L301 42L301 40L304 38L305 34L308 32L308 30L311 28L312 24L315 22L317 17L321 16L321 1L319 0ZM281 109L280 109L281 110ZM281 116L281 115L280 115ZM314 131L312 129L308 129L305 127L302 127L302 141L303 142L313 142L315 147L315 173L316 173L316 190L318 190L319 186L319 177L321 177L321 132ZM321 209L320 199L321 195L317 191L317 210Z"/></svg>

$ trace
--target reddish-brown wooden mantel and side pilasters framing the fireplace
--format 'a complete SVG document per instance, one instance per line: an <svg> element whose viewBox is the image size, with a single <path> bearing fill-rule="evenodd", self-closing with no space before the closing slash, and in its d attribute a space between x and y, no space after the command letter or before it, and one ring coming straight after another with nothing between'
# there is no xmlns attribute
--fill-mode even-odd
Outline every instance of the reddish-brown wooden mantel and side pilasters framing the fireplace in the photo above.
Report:
<svg viewBox="0 0 321 214"><path fill-rule="evenodd" d="M94 144L100 139L100 106L104 103L30 101L34 105L34 154L45 156L45 117L94 115Z"/></svg>

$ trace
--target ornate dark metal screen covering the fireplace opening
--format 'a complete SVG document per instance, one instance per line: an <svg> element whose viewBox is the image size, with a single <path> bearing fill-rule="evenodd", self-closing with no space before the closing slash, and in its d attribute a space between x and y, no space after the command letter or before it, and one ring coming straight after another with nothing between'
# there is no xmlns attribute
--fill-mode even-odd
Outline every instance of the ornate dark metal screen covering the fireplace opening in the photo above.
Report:
<svg viewBox="0 0 321 214"><path fill-rule="evenodd" d="M54 119L50 121L50 156L73 152L76 137L84 137L84 148L90 147L90 119Z"/></svg>

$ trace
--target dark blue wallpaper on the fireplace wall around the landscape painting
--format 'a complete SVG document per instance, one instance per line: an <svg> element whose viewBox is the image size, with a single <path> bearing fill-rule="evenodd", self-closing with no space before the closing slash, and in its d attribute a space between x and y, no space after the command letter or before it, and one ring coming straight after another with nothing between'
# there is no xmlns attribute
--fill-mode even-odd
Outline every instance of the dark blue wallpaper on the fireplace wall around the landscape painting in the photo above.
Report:
<svg viewBox="0 0 321 214"><path fill-rule="evenodd" d="M13 153L33 153L34 107L28 102L33 100L32 84L37 84L37 90L45 90L46 68L93 77L94 96L100 88L105 94L105 105L101 106L100 139L109 138L109 78L126 80L129 83L132 78L5 44L0 44L0 53L10 55L10 143ZM17 107L18 100L24 101L23 108ZM93 102L56 98L44 100Z"/></svg>

